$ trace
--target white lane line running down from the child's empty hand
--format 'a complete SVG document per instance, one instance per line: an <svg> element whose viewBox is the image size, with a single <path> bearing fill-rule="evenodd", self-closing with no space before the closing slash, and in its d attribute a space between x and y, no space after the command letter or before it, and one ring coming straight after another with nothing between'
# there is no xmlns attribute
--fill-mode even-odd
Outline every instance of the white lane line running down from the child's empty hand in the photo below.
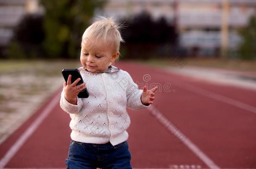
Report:
<svg viewBox="0 0 256 169"><path fill-rule="evenodd" d="M180 141L182 141L196 156L199 157L210 169L220 169L212 159L210 159L203 151L201 151L188 137L186 137L172 122L169 121L155 106L151 105L147 108L167 130L172 132Z"/></svg>

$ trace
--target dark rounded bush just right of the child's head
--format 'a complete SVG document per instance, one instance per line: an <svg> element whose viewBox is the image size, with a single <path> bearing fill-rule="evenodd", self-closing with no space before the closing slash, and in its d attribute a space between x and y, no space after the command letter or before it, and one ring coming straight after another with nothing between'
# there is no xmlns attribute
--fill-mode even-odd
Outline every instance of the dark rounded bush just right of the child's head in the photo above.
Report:
<svg viewBox="0 0 256 169"><path fill-rule="evenodd" d="M175 27L165 18L153 20L149 13L143 12L123 21L125 29L122 36L125 44L121 51L125 58L151 58L154 55L170 55L175 46L177 34ZM167 48L166 48L167 47ZM164 50L163 50L164 49Z"/></svg>

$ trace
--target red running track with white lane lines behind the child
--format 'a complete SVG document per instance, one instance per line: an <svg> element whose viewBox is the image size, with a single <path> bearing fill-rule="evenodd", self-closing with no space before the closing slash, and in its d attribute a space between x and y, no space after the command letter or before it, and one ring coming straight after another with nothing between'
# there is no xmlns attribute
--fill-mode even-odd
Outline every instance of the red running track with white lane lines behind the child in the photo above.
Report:
<svg viewBox="0 0 256 169"><path fill-rule="evenodd" d="M161 85L154 110L128 109L133 168L256 168L256 91L133 62L117 66L140 88ZM0 167L65 168L71 129L59 106L60 91L0 145ZM176 127L176 135L166 122Z"/></svg>

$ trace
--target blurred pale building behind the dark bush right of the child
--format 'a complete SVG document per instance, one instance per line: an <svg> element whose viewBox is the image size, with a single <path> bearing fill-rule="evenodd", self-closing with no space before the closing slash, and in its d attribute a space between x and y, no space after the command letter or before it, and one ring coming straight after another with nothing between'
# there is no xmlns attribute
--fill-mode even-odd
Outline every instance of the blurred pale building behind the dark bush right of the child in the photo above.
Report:
<svg viewBox="0 0 256 169"><path fill-rule="evenodd" d="M154 19L164 16L175 23L179 45L191 55L219 55L222 45L223 0L109 0L107 15L130 18L146 11ZM241 41L238 29L256 15L256 0L228 0L228 49L235 51Z"/></svg>

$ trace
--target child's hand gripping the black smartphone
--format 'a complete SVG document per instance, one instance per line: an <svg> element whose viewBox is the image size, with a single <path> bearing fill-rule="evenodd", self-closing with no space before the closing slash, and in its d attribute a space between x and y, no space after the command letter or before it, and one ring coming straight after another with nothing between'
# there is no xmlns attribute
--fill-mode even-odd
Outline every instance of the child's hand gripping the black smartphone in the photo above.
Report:
<svg viewBox="0 0 256 169"><path fill-rule="evenodd" d="M71 103L75 104L77 102L77 95L80 91L83 91L86 88L86 83L82 83L78 86L76 84L80 81L80 78L76 79L73 83L71 83L71 75L68 76L67 83L63 83L64 91L65 91L65 99Z"/></svg>

